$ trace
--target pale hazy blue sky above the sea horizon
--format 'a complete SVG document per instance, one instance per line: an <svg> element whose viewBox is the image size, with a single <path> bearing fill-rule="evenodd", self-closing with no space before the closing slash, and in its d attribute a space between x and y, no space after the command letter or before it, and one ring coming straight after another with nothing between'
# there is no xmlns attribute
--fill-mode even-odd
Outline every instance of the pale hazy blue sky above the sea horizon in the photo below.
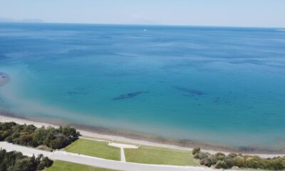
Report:
<svg viewBox="0 0 285 171"><path fill-rule="evenodd" d="M285 26L285 0L0 0L0 20Z"/></svg>

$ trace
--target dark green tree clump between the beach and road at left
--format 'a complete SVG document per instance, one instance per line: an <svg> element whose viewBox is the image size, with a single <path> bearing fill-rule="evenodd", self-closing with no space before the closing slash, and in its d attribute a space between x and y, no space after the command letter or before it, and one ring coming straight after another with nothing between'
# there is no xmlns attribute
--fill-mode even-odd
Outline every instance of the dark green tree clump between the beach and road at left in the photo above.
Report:
<svg viewBox="0 0 285 171"><path fill-rule="evenodd" d="M0 123L0 141L12 142L18 145L61 149L78 139L79 132L69 126L59 128L41 127L34 125L19 125L17 123Z"/></svg>

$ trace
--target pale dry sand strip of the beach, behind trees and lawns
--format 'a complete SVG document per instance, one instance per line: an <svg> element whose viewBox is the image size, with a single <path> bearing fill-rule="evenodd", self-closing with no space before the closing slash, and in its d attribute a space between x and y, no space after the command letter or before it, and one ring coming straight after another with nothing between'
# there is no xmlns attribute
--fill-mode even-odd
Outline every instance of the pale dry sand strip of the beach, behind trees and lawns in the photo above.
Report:
<svg viewBox="0 0 285 171"><path fill-rule="evenodd" d="M18 118L14 115L12 116L8 116L6 115L1 115L0 114L0 122L4 123L4 122L15 122L15 123L19 123L19 124L32 124L35 125L36 127L55 127L57 128L58 125L56 124L51 124L51 123L44 123L41 121L37 121L37 120L33 120L31 118ZM139 144L139 145L150 145L150 146L156 146L156 147L168 147L168 148L175 148L175 149L180 149L180 150L192 150L192 147L182 147L180 145L172 145L172 144L167 144L167 143L160 143L160 142L150 142L148 140L138 140L135 138L128 138L128 137L124 137L124 136L120 136L120 135L111 135L110 133L108 134L103 134L103 133L98 133L96 131L90 131L90 130L86 130L83 128L79 128L78 131L80 131L81 135L83 136L88 136L88 137L93 137L93 138L103 138L103 139L108 139L108 140L114 140L114 141L120 141L120 142L129 142L129 143L135 143L135 144ZM214 149L214 148L213 148ZM230 149L227 150L218 150L218 149L214 149L214 150L203 150L204 152L209 152L211 154L214 154L216 152L224 152L225 154L229 154L229 152L236 152L236 151L231 151ZM276 156L285 156L285 154L271 154L271 153L247 153L249 155L259 155L260 157L276 157Z"/></svg>

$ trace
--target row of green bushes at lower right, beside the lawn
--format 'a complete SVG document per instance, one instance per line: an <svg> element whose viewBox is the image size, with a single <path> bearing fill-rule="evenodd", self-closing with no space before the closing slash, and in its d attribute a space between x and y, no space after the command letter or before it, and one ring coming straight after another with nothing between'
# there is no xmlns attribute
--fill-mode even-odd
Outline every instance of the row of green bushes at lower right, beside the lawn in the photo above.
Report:
<svg viewBox="0 0 285 171"><path fill-rule="evenodd" d="M192 155L194 155L195 159L199 160L200 165L217 169L231 169L232 167L261 170L285 169L285 157L261 158L256 155L236 153L224 155L222 152L211 155L208 152L202 152L199 147L192 150Z"/></svg>

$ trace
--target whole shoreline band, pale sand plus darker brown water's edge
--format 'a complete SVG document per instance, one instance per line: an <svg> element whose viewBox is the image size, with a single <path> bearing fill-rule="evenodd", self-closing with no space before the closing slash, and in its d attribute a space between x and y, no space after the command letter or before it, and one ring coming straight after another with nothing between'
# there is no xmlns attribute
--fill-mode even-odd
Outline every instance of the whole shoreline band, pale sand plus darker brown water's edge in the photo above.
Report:
<svg viewBox="0 0 285 171"><path fill-rule="evenodd" d="M36 118L27 118L21 117L18 115L13 115L10 113L0 113L0 123L5 122L15 122L19 124L31 124L35 125L36 127L41 126L51 126L57 128L59 125L58 123L51 123L42 121ZM65 124L66 125L66 124ZM167 147L179 150L188 150L191 151L193 147L201 147L202 151L209 152L210 154L214 154L217 152L224 152L224 154L229 154L230 152L242 152L247 155L259 155L260 157L277 157L277 156L285 156L285 153L278 153L274 151L265 151L265 150L254 150L251 152L247 151L240 151L234 148L223 147L223 146L215 146L215 145L208 145L202 144L199 142L195 142L192 140L173 140L167 138L161 138L155 135L145 135L145 134L135 134L135 133L126 133L123 131L118 130L110 130L108 128L100 128L100 127L91 127L86 125L76 125L76 124L67 124L76 127L81 135L86 137L93 137L93 138L102 138L108 140L114 140L119 142L130 142L139 145L150 145L155 147Z"/></svg>

